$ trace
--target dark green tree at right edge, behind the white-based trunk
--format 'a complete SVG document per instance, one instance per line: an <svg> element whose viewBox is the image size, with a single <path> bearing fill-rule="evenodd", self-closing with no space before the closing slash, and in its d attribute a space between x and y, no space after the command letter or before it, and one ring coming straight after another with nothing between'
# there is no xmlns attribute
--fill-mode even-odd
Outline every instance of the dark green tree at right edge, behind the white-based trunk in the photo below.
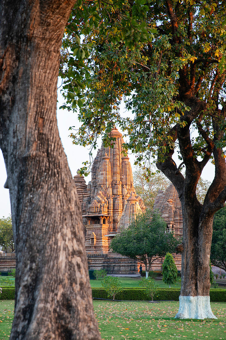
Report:
<svg viewBox="0 0 226 340"><path fill-rule="evenodd" d="M226 207L213 217L213 236L210 250L211 263L226 271Z"/></svg>

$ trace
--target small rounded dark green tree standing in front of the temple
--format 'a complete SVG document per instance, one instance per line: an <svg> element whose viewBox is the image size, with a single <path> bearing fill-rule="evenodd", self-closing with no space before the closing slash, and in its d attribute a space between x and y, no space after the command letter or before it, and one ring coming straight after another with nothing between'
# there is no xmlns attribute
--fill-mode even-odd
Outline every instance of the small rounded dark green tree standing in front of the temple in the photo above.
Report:
<svg viewBox="0 0 226 340"><path fill-rule="evenodd" d="M139 214L129 228L117 235L111 242L113 252L128 256L144 263L146 278L151 265L167 252L175 251L178 241L171 233L165 233L166 223L158 215L150 212Z"/></svg>

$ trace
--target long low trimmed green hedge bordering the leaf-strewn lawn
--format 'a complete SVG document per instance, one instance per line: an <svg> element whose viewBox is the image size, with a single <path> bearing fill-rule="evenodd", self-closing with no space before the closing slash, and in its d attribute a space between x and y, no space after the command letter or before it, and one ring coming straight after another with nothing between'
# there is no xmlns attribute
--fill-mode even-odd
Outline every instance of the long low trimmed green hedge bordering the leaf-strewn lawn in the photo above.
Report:
<svg viewBox="0 0 226 340"><path fill-rule="evenodd" d="M92 295L95 299L109 299L107 292L103 288L92 288ZM180 288L159 288L157 296L154 300L173 300L178 301ZM210 289L209 292L211 302L226 302L226 289ZM0 294L0 300L14 300L15 287L3 287ZM144 288L124 288L122 292L115 296L116 300L135 300L149 301L150 297L146 295Z"/></svg>

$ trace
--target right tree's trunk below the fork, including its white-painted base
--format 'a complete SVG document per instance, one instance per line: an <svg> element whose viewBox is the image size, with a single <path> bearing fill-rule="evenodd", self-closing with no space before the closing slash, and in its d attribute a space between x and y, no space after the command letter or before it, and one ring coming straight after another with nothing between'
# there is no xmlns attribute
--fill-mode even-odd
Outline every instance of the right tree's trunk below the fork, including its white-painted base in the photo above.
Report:
<svg viewBox="0 0 226 340"><path fill-rule="evenodd" d="M185 204L183 212L182 282L180 307L175 318L214 318L210 307L210 246L213 215L201 211L199 204Z"/></svg>

